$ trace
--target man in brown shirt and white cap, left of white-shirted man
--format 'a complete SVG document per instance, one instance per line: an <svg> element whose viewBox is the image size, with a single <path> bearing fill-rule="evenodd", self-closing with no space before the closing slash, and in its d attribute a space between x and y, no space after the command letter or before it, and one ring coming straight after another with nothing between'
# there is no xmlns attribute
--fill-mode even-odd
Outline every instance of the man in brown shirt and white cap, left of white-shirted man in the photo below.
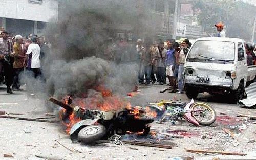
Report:
<svg viewBox="0 0 256 160"><path fill-rule="evenodd" d="M14 80L12 90L20 90L19 74L23 71L23 61L25 54L22 52L23 37L21 35L15 36L15 44L13 45L13 57L14 57Z"/></svg>

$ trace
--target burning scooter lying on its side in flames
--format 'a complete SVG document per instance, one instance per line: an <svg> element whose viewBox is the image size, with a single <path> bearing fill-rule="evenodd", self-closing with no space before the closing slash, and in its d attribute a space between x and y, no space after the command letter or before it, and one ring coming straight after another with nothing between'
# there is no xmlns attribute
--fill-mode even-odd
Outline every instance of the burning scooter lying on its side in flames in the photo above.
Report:
<svg viewBox="0 0 256 160"><path fill-rule="evenodd" d="M147 135L150 132L148 124L154 121L146 115L142 108L125 108L120 110L101 111L88 110L82 107L71 107L51 97L51 102L65 108L61 113L62 121L71 121L69 117L76 117L76 123L68 131L72 141L78 139L84 143L93 143L114 134L137 133ZM67 124L67 123L66 123Z"/></svg>

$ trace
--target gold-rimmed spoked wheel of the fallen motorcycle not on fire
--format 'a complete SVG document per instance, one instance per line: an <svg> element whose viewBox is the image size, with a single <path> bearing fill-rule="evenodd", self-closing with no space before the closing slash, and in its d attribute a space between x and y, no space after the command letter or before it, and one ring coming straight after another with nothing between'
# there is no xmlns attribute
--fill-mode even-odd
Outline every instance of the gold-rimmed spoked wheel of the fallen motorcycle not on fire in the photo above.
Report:
<svg viewBox="0 0 256 160"><path fill-rule="evenodd" d="M216 120L216 112L211 106L203 102L196 102L191 105L191 110L203 110L191 112L194 119L198 121L200 125L211 125Z"/></svg>

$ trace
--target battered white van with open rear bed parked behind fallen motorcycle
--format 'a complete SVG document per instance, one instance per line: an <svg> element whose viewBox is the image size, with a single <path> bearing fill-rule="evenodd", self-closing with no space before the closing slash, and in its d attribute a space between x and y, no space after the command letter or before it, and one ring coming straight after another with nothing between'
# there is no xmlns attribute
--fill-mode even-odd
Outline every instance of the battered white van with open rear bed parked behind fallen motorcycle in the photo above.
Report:
<svg viewBox="0 0 256 160"><path fill-rule="evenodd" d="M242 39L199 38L186 57L184 85L188 98L208 92L230 94L237 102L245 97L246 83L255 76L256 66L247 66Z"/></svg>

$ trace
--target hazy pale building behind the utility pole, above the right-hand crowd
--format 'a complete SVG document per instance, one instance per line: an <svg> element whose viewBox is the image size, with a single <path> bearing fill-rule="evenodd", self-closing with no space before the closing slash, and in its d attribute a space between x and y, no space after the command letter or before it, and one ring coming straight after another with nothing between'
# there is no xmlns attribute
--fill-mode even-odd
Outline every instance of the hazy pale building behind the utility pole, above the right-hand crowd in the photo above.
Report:
<svg viewBox="0 0 256 160"><path fill-rule="evenodd" d="M156 25L158 37L196 39L206 37L203 28L198 25L197 11L193 11L190 0L144 0L153 4L155 19L161 19ZM161 2L160 2L161 1ZM177 7L176 7L177 3Z"/></svg>

